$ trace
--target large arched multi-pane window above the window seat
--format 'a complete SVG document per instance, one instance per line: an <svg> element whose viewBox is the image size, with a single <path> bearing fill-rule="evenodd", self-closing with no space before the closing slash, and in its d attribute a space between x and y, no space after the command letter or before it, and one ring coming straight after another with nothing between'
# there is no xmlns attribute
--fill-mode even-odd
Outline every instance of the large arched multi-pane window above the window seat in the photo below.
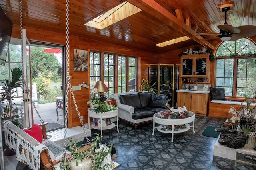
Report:
<svg viewBox="0 0 256 170"><path fill-rule="evenodd" d="M224 41L216 52L216 87L230 97L256 94L255 43L247 38Z"/></svg>

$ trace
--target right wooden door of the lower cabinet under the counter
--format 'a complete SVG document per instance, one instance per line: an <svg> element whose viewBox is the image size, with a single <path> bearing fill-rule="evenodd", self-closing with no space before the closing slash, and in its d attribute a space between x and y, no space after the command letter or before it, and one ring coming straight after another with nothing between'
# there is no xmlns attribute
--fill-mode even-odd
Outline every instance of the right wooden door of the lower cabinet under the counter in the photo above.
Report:
<svg viewBox="0 0 256 170"><path fill-rule="evenodd" d="M207 101L206 95L202 93L191 93L190 111L206 115ZM208 98L207 98L208 100Z"/></svg>

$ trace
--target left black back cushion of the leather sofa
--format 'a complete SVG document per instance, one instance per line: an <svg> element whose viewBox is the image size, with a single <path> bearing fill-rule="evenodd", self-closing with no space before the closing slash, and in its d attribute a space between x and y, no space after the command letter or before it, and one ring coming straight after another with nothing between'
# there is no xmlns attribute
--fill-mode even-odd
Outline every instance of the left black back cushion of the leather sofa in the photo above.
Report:
<svg viewBox="0 0 256 170"><path fill-rule="evenodd" d="M142 108L140 104L139 94L124 94L119 96L121 104L126 104L134 107L134 109Z"/></svg>

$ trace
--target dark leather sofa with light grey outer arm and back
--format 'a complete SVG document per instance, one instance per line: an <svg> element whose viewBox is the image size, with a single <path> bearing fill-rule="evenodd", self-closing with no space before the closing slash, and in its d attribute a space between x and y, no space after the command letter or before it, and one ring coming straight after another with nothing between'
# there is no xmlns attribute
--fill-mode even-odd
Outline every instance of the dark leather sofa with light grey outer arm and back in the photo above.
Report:
<svg viewBox="0 0 256 170"><path fill-rule="evenodd" d="M153 121L154 113L169 109L166 107L168 96L148 92L116 93L114 99L118 105L120 120L134 126Z"/></svg>

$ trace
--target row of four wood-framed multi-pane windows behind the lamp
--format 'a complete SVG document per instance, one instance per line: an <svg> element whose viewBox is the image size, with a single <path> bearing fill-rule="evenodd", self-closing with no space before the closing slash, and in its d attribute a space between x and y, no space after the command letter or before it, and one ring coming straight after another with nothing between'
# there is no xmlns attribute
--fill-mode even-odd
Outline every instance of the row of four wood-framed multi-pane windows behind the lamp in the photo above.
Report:
<svg viewBox="0 0 256 170"><path fill-rule="evenodd" d="M110 53L103 53L102 57L100 52L90 52L90 88L92 89L98 80L104 80L109 89L105 94L107 98L112 98L114 93L136 91L136 73L136 57Z"/></svg>

